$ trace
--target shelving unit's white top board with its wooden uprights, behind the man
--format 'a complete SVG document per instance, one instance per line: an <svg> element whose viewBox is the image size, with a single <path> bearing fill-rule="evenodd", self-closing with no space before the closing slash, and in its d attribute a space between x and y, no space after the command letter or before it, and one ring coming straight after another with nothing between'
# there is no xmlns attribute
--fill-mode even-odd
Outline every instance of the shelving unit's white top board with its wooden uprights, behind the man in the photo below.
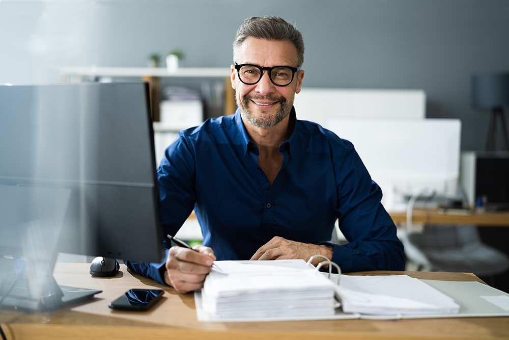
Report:
<svg viewBox="0 0 509 340"><path fill-rule="evenodd" d="M230 83L230 68L226 67L181 67L168 72L165 67L64 67L60 69L62 82L81 82L84 76L90 77L140 77L150 84L151 103L154 121L159 121L159 101L161 78L224 78L224 115L235 113L235 91Z"/></svg>

